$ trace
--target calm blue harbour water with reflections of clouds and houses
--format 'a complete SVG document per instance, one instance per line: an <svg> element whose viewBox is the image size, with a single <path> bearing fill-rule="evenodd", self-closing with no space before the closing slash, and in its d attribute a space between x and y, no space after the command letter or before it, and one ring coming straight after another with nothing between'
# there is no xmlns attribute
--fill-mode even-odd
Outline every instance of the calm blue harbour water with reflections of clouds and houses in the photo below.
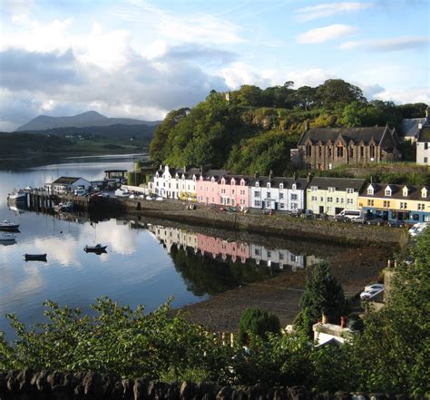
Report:
<svg viewBox="0 0 430 400"><path fill-rule="evenodd" d="M306 266L306 257L288 249L265 249L125 220L62 220L10 210L7 205L7 193L15 188L43 186L59 176L100 180L107 169L131 170L133 158L142 156L69 159L0 171L0 220L20 224L16 243L0 244L0 330L7 337L13 335L5 313L15 313L27 324L41 321L42 304L48 298L88 312L95 298L108 296L131 307L143 304L151 311L170 297L173 307L181 307L241 283L267 278L273 269L268 267L279 266L279 262L289 270ZM85 245L99 242L108 245L106 254L83 251ZM47 262L25 262L24 253L47 253Z"/></svg>

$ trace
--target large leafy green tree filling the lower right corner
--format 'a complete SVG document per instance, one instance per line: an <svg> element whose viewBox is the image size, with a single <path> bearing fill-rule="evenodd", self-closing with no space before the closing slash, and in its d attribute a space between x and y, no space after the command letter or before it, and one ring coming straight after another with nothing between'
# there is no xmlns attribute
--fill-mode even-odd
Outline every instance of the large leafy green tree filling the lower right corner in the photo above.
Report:
<svg viewBox="0 0 430 400"><path fill-rule="evenodd" d="M351 346L359 389L426 397L430 393L430 230L398 262L386 306L369 309ZM406 254L407 256L407 254Z"/></svg>

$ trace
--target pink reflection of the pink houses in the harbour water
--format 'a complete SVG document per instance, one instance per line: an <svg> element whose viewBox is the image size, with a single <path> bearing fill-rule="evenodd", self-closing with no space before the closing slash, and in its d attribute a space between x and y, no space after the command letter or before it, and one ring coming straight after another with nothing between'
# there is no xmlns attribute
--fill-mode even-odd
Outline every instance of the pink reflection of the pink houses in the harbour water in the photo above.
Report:
<svg viewBox="0 0 430 400"><path fill-rule="evenodd" d="M233 262L240 259L242 264L249 259L249 244L247 243L214 238L198 233L197 246L201 254L209 253L214 259L218 256L224 260L230 257Z"/></svg>

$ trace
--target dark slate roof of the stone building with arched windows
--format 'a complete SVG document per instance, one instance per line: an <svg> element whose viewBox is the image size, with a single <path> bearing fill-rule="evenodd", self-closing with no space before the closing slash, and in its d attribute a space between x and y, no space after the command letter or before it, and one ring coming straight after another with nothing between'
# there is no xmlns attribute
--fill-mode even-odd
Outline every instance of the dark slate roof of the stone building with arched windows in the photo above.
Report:
<svg viewBox="0 0 430 400"><path fill-rule="evenodd" d="M353 141L358 144L363 141L365 144L368 144L372 138L376 141L376 144L387 145L389 143L395 143L397 146L399 144L399 139L396 133L396 130L390 130L388 126L373 126L368 128L313 128L304 132L300 140L298 141L298 146L304 146L308 139L312 141L313 144L318 144L318 141L321 141L323 144L326 144L328 141L337 141L339 137L342 137L347 144L349 141ZM391 147L393 147L391 145Z"/></svg>

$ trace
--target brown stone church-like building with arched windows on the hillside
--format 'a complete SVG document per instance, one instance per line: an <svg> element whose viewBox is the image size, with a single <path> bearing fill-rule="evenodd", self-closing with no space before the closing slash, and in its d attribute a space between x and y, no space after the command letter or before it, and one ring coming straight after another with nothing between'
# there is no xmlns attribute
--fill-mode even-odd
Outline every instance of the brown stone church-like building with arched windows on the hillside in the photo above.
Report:
<svg viewBox="0 0 430 400"><path fill-rule="evenodd" d="M340 164L373 164L398 161L400 141L395 129L313 128L307 129L298 141L293 161L309 170L331 170Z"/></svg>

